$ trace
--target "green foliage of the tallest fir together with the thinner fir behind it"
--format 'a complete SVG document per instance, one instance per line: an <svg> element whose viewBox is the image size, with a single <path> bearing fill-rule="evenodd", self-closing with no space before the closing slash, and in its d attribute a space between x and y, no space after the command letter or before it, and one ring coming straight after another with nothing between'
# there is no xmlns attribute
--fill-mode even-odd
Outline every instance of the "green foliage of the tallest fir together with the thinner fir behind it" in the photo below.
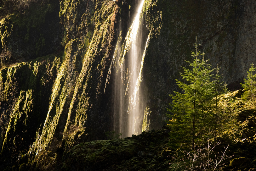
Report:
<svg viewBox="0 0 256 171"><path fill-rule="evenodd" d="M170 109L172 114L167 114L172 118L168 121L171 128L171 144L180 146L181 144L195 146L195 141L203 141L204 135L209 127L215 132L220 122L218 109L219 95L224 88L220 82L219 68L217 74L213 75L214 69L204 60L204 53L197 52L198 44L194 45L196 52L192 52L193 62L188 62L192 69L183 67L184 73L180 73L185 80L176 82L182 93L174 91L176 95L170 95L172 103ZM199 59L199 57L202 59ZM215 98L215 99L214 99Z"/></svg>

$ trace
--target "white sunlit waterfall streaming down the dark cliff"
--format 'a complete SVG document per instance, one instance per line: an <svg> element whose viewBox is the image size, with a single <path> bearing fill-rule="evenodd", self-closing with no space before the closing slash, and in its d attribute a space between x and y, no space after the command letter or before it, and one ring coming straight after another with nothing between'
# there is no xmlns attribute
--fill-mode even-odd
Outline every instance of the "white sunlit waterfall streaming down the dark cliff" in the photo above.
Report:
<svg viewBox="0 0 256 171"><path fill-rule="evenodd" d="M144 116L145 107L140 94L145 49L141 25L144 1L139 1L133 23L124 41L121 31L111 63L111 67L116 71L113 73L112 123L114 131L122 133L122 137L140 134Z"/></svg>

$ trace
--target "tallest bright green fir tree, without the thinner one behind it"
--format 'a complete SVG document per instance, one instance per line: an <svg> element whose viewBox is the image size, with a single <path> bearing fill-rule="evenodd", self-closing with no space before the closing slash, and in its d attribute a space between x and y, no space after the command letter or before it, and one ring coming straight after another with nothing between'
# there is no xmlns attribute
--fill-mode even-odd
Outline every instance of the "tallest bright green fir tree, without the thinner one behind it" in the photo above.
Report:
<svg viewBox="0 0 256 171"><path fill-rule="evenodd" d="M175 96L170 95L172 98L171 109L168 109L173 115L168 115L169 125L172 132L171 137L174 145L180 143L188 143L192 140L192 147L195 146L195 140L200 138L204 125L209 121L209 115L206 112L208 103L212 99L209 97L213 87L213 82L210 80L211 66L207 64L208 61L200 60L199 56L203 53L197 52L198 44L195 43L196 52L192 52L193 62L188 62L192 67L191 70L184 69L184 74L180 74L184 83L176 79L180 89L184 93L174 91Z"/></svg>

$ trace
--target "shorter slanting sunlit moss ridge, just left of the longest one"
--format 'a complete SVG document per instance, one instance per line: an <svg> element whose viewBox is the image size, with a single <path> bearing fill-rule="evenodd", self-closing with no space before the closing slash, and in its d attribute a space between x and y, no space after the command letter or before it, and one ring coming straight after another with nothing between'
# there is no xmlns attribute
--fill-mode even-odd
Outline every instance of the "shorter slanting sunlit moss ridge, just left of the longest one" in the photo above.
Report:
<svg viewBox="0 0 256 171"><path fill-rule="evenodd" d="M79 54L72 55L79 42L78 39L73 39L65 47L65 56L63 63L58 69L57 78L54 81L48 114L42 133L37 136L30 149L34 154L38 154L41 151L44 152L45 150L56 150L62 139L63 125L65 125L67 119L67 108L73 97L73 86L77 79L79 63L81 63Z"/></svg>

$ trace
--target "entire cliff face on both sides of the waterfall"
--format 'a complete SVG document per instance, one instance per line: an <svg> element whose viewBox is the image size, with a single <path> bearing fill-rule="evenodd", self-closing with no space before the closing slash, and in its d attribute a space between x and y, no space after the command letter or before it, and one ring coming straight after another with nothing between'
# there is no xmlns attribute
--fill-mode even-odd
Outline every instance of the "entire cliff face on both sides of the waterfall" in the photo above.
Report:
<svg viewBox="0 0 256 171"><path fill-rule="evenodd" d="M0 1L1 169L43 169L72 146L112 131L111 61L140 1L17 2ZM175 79L192 60L196 36L223 81L239 88L256 63L255 5L145 0L141 28L149 36L139 88L150 129L164 124L168 94L179 91Z"/></svg>

